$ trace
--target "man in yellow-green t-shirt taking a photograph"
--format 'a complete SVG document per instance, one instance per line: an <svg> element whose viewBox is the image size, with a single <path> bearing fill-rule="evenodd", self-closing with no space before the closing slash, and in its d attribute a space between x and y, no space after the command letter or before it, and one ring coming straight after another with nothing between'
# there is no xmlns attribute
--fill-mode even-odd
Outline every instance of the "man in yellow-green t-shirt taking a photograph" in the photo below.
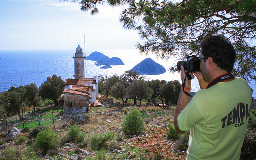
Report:
<svg viewBox="0 0 256 160"><path fill-rule="evenodd" d="M242 78L230 73L236 52L224 36L210 36L201 44L199 81L188 104L183 91L174 114L175 130L190 130L187 160L239 160L252 105L252 91ZM181 79L186 74L181 66ZM186 79L186 92L191 81Z"/></svg>

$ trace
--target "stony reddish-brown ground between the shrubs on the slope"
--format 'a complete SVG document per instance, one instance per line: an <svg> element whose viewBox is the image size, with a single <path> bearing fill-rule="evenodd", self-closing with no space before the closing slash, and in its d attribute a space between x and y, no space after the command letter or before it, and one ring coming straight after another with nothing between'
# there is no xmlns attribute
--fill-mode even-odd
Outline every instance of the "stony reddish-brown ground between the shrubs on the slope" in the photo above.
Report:
<svg viewBox="0 0 256 160"><path fill-rule="evenodd" d="M129 159L140 159L138 153L131 153L130 151L126 151L125 148L135 148L136 151L140 152L139 155L143 157L154 157L157 153L163 155L164 157L168 157L173 160L185 160L186 153L180 151L174 151L173 146L175 145L175 141L172 139L167 139L165 133L168 129L168 124L172 122L172 117L174 114L173 108L168 108L160 111L143 111L142 115L145 120L145 131L136 136L136 135L124 135L121 131L121 122L123 121L125 114L122 111L122 102L114 99L105 99L101 100L101 104L104 107L98 108L90 108L89 114L87 115L89 118L89 122L87 124L79 124L82 132L85 132L88 137L90 135L96 133L105 132L116 132L121 140L119 141L119 145L121 146L119 150L113 150L112 153L108 153L109 155L114 153L124 153L130 155ZM125 104L125 108L129 110L129 108L133 107L133 102L128 102ZM138 108L139 106L136 105ZM153 107L151 105L143 105L146 109L147 107ZM143 109L143 108L142 108ZM68 118L68 117L66 117ZM64 122L65 118L62 117ZM63 122L56 127L56 132L59 133L60 137L65 135L67 132L67 128L63 128ZM14 146L20 152L25 152L27 146L25 143L17 146L15 145L15 141L10 141L5 146ZM1 149L1 146L0 146ZM73 143L67 143L64 147L59 148L59 153L57 156L44 156L42 159L87 159L88 157L94 157L96 155L95 152L90 150L89 148L82 149L81 155L70 154L73 153L74 150L77 149L77 145ZM137 156L136 156L137 155ZM120 158L122 159L122 158Z"/></svg>

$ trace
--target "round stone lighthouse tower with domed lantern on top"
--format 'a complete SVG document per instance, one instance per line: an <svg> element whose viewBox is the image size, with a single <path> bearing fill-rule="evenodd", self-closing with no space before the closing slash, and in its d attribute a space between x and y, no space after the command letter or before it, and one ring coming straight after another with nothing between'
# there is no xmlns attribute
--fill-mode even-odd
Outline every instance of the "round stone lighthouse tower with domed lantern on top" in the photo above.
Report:
<svg viewBox="0 0 256 160"><path fill-rule="evenodd" d="M75 60L75 79L83 79L85 54L83 53L83 49L80 47L80 44L78 44L76 53L73 54L73 58Z"/></svg>

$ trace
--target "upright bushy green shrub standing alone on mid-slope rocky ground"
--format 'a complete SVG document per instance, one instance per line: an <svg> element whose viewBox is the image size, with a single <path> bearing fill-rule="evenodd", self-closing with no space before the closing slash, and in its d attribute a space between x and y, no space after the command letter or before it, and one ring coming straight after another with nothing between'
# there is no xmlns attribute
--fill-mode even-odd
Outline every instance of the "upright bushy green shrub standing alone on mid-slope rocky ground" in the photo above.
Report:
<svg viewBox="0 0 256 160"><path fill-rule="evenodd" d="M122 131L125 134L140 134L144 131L144 120L141 117L140 111L135 107L129 111L121 123Z"/></svg>

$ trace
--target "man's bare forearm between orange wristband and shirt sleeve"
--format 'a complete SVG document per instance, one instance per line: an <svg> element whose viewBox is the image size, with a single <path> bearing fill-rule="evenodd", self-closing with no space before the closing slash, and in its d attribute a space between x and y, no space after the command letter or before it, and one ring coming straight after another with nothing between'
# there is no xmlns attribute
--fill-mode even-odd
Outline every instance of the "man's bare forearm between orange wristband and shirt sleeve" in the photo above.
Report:
<svg viewBox="0 0 256 160"><path fill-rule="evenodd" d="M180 91L180 97L179 97L179 100L178 100L178 103L177 103L177 107L175 109L175 113L174 113L174 128L175 128L175 131L178 132L178 133L184 133L185 131L181 131L179 129L179 125L178 125L178 115L180 114L180 112L187 106L188 104L188 96L181 90Z"/></svg>

